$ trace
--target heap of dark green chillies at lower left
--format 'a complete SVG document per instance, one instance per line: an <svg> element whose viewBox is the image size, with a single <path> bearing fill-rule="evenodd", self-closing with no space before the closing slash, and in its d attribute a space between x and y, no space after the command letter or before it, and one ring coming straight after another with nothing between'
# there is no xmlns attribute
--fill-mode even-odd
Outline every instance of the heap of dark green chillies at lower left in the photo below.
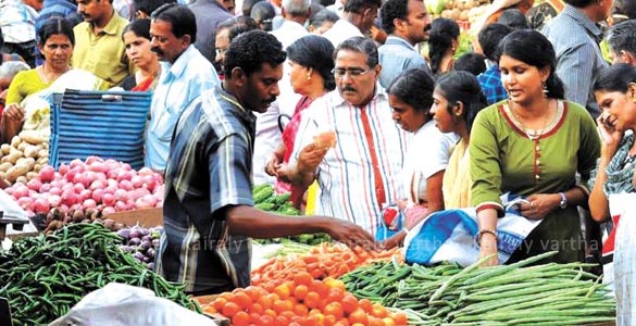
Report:
<svg viewBox="0 0 636 326"><path fill-rule="evenodd" d="M100 224L73 224L48 236L16 240L0 251L0 297L14 325L49 324L88 292L116 281L145 287L200 312L183 287L139 264L117 244L122 238Z"/></svg>

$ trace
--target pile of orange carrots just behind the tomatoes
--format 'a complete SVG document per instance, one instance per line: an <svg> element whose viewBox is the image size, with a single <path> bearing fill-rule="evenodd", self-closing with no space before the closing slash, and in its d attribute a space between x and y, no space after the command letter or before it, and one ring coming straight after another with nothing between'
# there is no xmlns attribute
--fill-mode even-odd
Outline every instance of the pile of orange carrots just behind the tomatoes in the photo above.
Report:
<svg viewBox="0 0 636 326"><path fill-rule="evenodd" d="M272 290L301 272L309 273L313 279L338 278L372 262L390 261L394 255L401 258L398 248L375 252L360 247L351 250L344 244L322 243L312 248L308 254L273 258L252 271L251 280L252 285Z"/></svg>

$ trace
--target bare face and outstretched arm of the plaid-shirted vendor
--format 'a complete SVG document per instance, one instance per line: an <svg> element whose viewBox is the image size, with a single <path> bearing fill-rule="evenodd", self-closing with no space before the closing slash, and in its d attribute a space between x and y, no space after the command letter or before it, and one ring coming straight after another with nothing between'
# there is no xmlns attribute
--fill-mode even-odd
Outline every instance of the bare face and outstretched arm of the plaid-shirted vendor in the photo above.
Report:
<svg viewBox="0 0 636 326"><path fill-rule="evenodd" d="M263 113L278 96L278 80L283 65L262 63L261 70L247 75L235 67L226 74L223 88L232 93L244 108ZM252 238L276 238L301 234L326 233L334 240L353 248L373 249L375 240L362 227L350 222L327 216L288 217L272 214L250 205L228 206L224 211L232 235Z"/></svg>

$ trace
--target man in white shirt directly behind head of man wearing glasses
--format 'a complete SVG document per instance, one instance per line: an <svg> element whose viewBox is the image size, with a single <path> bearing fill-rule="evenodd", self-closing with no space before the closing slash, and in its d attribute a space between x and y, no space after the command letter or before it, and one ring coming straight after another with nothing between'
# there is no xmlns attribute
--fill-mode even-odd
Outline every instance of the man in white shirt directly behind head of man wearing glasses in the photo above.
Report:
<svg viewBox="0 0 636 326"><path fill-rule="evenodd" d="M382 0L348 0L345 3L342 18L336 22L332 29L323 34L334 48L337 48L344 40L367 34L382 5Z"/></svg>

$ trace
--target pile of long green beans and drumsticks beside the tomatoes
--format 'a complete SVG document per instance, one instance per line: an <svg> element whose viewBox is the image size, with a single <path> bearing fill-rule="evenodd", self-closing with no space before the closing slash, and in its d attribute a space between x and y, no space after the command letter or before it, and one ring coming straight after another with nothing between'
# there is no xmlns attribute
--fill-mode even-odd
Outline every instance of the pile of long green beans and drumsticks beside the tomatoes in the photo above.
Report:
<svg viewBox="0 0 636 326"><path fill-rule="evenodd" d="M511 265L462 268L375 263L340 279L359 298L406 311L410 325L583 325L611 322L615 302L591 264L532 265L554 252Z"/></svg>

